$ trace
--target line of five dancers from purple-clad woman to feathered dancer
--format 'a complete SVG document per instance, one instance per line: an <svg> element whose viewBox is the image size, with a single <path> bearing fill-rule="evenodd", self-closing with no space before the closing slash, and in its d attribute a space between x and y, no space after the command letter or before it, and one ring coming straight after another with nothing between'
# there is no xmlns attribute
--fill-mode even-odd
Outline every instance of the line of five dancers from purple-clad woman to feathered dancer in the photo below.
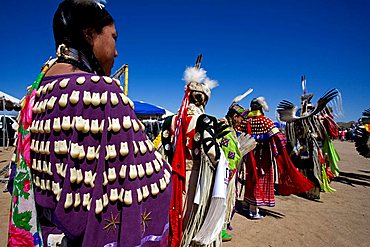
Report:
<svg viewBox="0 0 370 247"><path fill-rule="evenodd" d="M154 145L109 77L117 33L100 1L64 0L53 30L57 57L22 101L8 246L221 246L232 239L236 201L258 220L276 194L334 191L337 126L327 104L337 90L315 107L305 87L300 108L282 101L286 135L263 97L240 105L252 90L217 119L205 113L217 82L199 56Z"/></svg>

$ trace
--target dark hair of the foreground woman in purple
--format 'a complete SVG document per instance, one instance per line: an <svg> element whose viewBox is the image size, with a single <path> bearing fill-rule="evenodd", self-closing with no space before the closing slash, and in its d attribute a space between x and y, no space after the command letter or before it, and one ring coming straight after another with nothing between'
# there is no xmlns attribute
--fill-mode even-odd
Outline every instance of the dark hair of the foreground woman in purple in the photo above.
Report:
<svg viewBox="0 0 370 247"><path fill-rule="evenodd" d="M83 2L83 3L82 3ZM55 46L64 44L82 52L95 70L101 70L83 31L93 29L101 33L114 20L108 11L94 1L64 0L54 14L53 32Z"/></svg>

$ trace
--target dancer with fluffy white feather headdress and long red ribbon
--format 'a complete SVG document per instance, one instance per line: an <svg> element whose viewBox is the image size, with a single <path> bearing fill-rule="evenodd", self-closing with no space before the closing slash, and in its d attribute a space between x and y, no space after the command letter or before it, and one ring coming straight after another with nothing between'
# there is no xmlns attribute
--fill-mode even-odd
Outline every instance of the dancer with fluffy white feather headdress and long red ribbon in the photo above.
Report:
<svg viewBox="0 0 370 247"><path fill-rule="evenodd" d="M227 161L216 140L217 119L204 112L217 83L200 68L200 57L195 67L185 70L184 80L179 113L167 118L162 128L165 157L173 169L170 246L219 246Z"/></svg>

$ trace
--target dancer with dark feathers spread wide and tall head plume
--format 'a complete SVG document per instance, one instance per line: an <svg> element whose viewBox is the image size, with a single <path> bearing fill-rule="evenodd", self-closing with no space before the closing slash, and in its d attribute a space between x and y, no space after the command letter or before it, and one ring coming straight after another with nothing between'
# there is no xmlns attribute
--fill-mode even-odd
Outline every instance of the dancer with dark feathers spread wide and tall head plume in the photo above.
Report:
<svg viewBox="0 0 370 247"><path fill-rule="evenodd" d="M277 112L280 121L286 122L288 149L294 164L315 183L315 188L307 191L306 196L309 199L320 199L321 190L335 191L329 186L325 157L328 159L331 173L334 176L339 175L339 155L331 138L335 138L338 133L333 113L340 112L341 96L337 89L331 89L313 106L313 94L308 93L304 76L301 83L301 107L283 100L278 105ZM333 103L332 107L328 106L329 102ZM334 111L334 108L338 110Z"/></svg>

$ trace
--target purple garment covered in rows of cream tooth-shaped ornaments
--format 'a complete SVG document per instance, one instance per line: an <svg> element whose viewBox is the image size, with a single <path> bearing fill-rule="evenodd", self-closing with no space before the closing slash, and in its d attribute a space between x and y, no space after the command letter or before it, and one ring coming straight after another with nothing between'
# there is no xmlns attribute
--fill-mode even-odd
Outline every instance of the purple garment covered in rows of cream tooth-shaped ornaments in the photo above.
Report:
<svg viewBox="0 0 370 247"><path fill-rule="evenodd" d="M118 80L45 77L31 125L35 199L46 243L167 246L171 168L147 139Z"/></svg>

